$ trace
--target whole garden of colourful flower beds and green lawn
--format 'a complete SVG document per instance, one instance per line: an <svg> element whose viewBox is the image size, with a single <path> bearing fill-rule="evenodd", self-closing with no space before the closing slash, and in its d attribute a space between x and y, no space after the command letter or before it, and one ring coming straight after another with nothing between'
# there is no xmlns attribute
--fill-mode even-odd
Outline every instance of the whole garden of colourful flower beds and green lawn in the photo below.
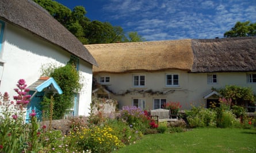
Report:
<svg viewBox="0 0 256 153"><path fill-rule="evenodd" d="M19 80L13 100L5 92L0 107L0 152L255 152L256 121L246 110L219 99L219 106L192 106L178 121L156 122L146 110L125 106L115 117L101 112L70 119L62 133L37 121L24 121L29 89ZM169 109L181 108L169 102ZM50 114L52 116L52 114Z"/></svg>

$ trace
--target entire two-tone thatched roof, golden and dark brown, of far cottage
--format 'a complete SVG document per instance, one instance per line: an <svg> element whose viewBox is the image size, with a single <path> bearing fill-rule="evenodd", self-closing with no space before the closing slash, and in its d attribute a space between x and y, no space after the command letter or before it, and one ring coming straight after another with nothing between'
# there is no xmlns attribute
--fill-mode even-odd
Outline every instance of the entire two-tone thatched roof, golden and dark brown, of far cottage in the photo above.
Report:
<svg viewBox="0 0 256 153"><path fill-rule="evenodd" d="M85 45L93 73L180 69L192 73L256 71L256 37Z"/></svg>

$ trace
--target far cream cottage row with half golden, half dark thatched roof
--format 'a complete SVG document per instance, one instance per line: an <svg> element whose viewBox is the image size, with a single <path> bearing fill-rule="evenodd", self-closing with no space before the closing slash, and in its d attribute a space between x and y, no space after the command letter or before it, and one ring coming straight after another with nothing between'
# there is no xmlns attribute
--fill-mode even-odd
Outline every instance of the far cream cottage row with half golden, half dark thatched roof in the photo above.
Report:
<svg viewBox="0 0 256 153"><path fill-rule="evenodd" d="M209 105L212 87L240 85L256 93L256 37L85 45L98 66L97 83L124 105L157 109L179 101L182 109Z"/></svg>

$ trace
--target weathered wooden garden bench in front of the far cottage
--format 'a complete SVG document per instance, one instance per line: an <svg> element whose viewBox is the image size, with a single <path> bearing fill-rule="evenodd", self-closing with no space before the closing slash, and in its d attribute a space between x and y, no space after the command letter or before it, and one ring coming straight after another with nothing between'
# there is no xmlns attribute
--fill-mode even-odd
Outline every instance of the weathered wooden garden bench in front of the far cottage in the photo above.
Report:
<svg viewBox="0 0 256 153"><path fill-rule="evenodd" d="M171 111L169 109L153 109L150 110L151 119L156 120L157 123L161 121L177 121L171 117Z"/></svg>

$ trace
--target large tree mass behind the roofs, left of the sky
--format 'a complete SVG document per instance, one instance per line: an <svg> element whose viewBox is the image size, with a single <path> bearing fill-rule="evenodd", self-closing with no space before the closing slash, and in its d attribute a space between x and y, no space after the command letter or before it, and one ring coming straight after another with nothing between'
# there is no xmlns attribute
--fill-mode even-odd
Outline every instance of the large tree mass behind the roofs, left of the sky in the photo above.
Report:
<svg viewBox="0 0 256 153"><path fill-rule="evenodd" d="M83 44L108 44L114 42L145 41L137 32L125 36L123 28L112 26L109 22L90 21L83 6L68 7L52 0L33 0L44 7L56 20L62 23Z"/></svg>

